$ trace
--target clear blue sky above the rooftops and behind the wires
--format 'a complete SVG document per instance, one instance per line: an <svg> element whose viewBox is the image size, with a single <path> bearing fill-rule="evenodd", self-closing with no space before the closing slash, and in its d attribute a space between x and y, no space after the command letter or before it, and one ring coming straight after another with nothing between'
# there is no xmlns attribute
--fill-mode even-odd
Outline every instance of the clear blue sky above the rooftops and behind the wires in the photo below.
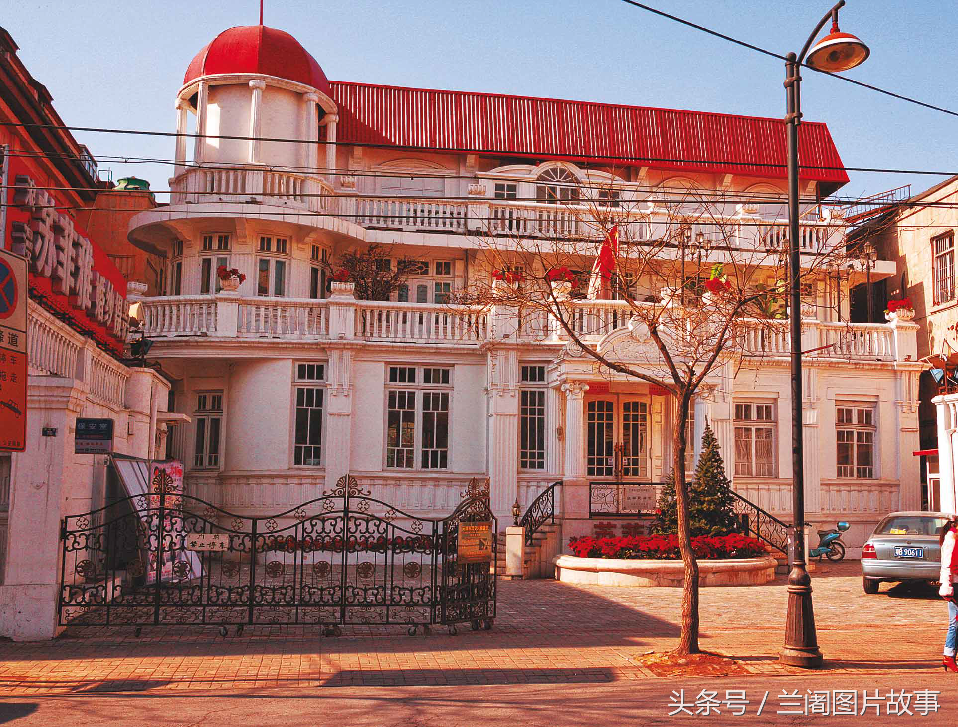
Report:
<svg viewBox="0 0 958 727"><path fill-rule="evenodd" d="M824 2L646 0L769 50L798 51ZM20 3L0 19L68 124L173 131L190 59L216 33L258 22L259 0ZM620 0L265 0L266 25L293 33L338 80L781 117L781 61ZM849 0L843 31L872 49L850 76L958 109L958 6ZM807 71L805 118L826 121L848 166L958 171L958 118ZM170 158L170 138L77 133L97 156ZM169 167L104 161L167 188ZM941 177L853 172L840 194Z"/></svg>

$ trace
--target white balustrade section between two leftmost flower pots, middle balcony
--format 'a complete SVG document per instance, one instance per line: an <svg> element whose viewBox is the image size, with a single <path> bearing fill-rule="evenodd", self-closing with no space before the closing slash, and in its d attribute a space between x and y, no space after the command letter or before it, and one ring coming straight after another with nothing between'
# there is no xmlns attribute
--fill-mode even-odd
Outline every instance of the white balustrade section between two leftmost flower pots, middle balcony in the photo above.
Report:
<svg viewBox="0 0 958 727"><path fill-rule="evenodd" d="M296 297L239 299L240 338L311 339L329 336L326 300Z"/></svg>

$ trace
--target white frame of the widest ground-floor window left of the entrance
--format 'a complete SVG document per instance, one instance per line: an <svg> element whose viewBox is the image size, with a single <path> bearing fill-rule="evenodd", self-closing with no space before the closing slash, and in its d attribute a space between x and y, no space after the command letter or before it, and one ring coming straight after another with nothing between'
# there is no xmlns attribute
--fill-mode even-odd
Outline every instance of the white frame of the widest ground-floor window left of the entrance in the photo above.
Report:
<svg viewBox="0 0 958 727"><path fill-rule="evenodd" d="M396 381L390 382L391 369L397 368L403 371L408 372L412 370L415 372L415 381ZM439 370L448 372L448 381L447 382L425 382L425 371L426 370ZM430 364L385 364L384 377L383 381L385 386L383 386L383 436L382 436L382 469L389 472L450 472L453 470L453 461L452 461L452 442L453 442L453 427L452 427L452 407L454 400L454 384L455 384L455 365L430 365ZM399 379L399 373L398 377ZM394 457L394 464L389 464L390 449L394 450L408 450L408 447L402 447L401 442L401 425L402 418L399 418L399 437L397 442L399 446L390 448L389 440L389 430L390 430L390 412L391 411L409 411L408 407L406 408L391 408L390 407L390 392L412 392L415 398L412 412L413 412L413 446L411 454L405 454L412 461L412 467L399 467L395 464L397 461ZM445 394L445 411L442 409L426 409L425 408L425 397L426 394L439 394L440 399L442 395ZM397 394L397 399L399 399L399 394ZM399 403L399 402L398 402ZM424 437L426 434L426 429L424 426L425 414L432 413L433 411L438 413L445 413L445 447L425 447ZM433 432L438 432L438 426L433 426ZM434 440L435 442L435 440ZM442 452L445 450L445 466L423 466L422 464L422 455L423 450ZM442 454L437 455L437 461L442 461Z"/></svg>

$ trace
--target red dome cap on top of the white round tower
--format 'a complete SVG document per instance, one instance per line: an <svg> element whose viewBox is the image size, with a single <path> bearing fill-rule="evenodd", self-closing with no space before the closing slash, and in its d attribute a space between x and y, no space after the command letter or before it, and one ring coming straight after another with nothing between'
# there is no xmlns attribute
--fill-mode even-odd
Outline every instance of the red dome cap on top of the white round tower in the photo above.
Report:
<svg viewBox="0 0 958 727"><path fill-rule="evenodd" d="M316 59L289 33L263 25L241 25L219 33L186 69L183 85L212 74L262 74L330 92Z"/></svg>

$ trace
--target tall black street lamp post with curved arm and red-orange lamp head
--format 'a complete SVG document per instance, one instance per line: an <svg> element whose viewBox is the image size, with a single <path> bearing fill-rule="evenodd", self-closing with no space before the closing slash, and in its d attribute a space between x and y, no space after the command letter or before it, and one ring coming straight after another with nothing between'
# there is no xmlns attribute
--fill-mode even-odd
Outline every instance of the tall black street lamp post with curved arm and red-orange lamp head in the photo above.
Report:
<svg viewBox="0 0 958 727"><path fill-rule="evenodd" d="M806 570L805 545L805 472L802 446L802 297L798 215L798 126L802 120L800 69L808 55L808 65L821 71L846 71L868 57L868 46L851 33L838 30L838 10L845 5L839 0L815 26L802 52L786 56L786 96L788 154L788 273L790 278L791 319L791 467L792 510L791 558L788 573L788 613L785 648L780 660L796 667L817 668L822 664L815 636L815 615L811 606L811 579ZM832 31L814 44L815 35L832 20Z"/></svg>

